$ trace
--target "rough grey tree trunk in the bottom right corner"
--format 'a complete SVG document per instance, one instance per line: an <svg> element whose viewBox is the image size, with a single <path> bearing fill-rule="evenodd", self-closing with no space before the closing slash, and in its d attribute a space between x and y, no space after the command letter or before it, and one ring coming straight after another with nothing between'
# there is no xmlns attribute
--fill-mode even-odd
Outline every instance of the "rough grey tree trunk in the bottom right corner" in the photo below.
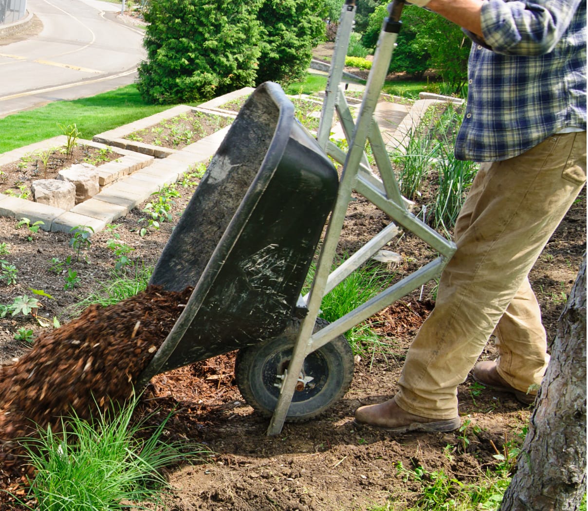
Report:
<svg viewBox="0 0 588 511"><path fill-rule="evenodd" d="M500 511L577 510L586 491L586 253Z"/></svg>

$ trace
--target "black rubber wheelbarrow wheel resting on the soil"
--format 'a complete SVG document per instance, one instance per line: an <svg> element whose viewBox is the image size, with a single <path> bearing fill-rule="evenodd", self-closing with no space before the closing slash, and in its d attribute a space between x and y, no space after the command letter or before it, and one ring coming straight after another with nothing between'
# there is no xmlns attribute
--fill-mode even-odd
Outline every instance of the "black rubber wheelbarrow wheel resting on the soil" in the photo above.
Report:
<svg viewBox="0 0 588 511"><path fill-rule="evenodd" d="M315 332L329 323L317 319ZM280 394L279 376L288 369L299 320L292 320L274 339L239 350L235 377L241 395L255 410L271 416ZM353 352L345 336L306 356L301 382L286 415L287 422L303 422L328 410L345 395L353 379Z"/></svg>

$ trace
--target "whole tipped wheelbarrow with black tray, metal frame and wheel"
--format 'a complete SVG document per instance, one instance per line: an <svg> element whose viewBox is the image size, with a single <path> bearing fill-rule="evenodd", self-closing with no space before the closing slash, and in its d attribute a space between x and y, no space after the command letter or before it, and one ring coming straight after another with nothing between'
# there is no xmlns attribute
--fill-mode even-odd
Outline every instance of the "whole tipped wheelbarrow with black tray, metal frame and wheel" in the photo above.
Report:
<svg viewBox="0 0 588 511"><path fill-rule="evenodd" d="M165 246L151 278L169 290L195 286L185 310L141 377L238 349L243 397L271 416L268 435L286 421L325 412L349 389L353 353L343 335L442 272L455 245L412 213L396 182L373 118L400 30L404 0L389 5L356 121L340 84L355 16L345 0L317 139L293 117L278 85L266 82L233 122ZM329 141L336 112L348 141ZM369 142L379 175L364 152ZM328 156L343 165L340 179ZM352 192L392 223L332 271ZM326 218L310 291L300 296ZM359 269L402 226L439 257L327 324L323 297Z"/></svg>

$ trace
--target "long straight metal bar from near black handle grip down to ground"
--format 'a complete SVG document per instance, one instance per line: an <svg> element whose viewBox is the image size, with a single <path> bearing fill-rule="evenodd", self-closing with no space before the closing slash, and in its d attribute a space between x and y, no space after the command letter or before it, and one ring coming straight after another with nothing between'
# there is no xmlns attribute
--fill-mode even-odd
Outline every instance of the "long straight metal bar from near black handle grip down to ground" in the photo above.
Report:
<svg viewBox="0 0 588 511"><path fill-rule="evenodd" d="M368 77L365 95L363 96L362 105L359 111L358 122L353 130L353 138L349 145L350 149L347 154L345 165L343 166L337 202L335 203L335 208L333 208L322 250L320 251L319 261L316 266L315 279L313 280L310 289L307 304L308 314L302 320L302 324L300 325L300 332L296 339L292 352L292 359L290 359L288 366L288 374L282 382L278 403L276 403L276 408L268 427L267 434L269 436L279 435L282 431L290 407L290 402L292 402L298 375L302 369L306 351L309 348L309 340L310 336L312 336L313 326L319 313L320 303L325 294L327 280L333 259L335 258L339 236L343 228L343 221L345 221L347 206L353 191L355 176L358 173L359 164L363 158L363 148L365 147L365 142L370 131L372 116L376 109L380 91L382 91L382 86L386 79L386 74L390 65L390 58L392 58L392 52L400 29L399 18L404 2L398 2L396 0L394 4L395 5L392 9L393 16L385 19L377 42L374 65L372 66L372 70Z"/></svg>

